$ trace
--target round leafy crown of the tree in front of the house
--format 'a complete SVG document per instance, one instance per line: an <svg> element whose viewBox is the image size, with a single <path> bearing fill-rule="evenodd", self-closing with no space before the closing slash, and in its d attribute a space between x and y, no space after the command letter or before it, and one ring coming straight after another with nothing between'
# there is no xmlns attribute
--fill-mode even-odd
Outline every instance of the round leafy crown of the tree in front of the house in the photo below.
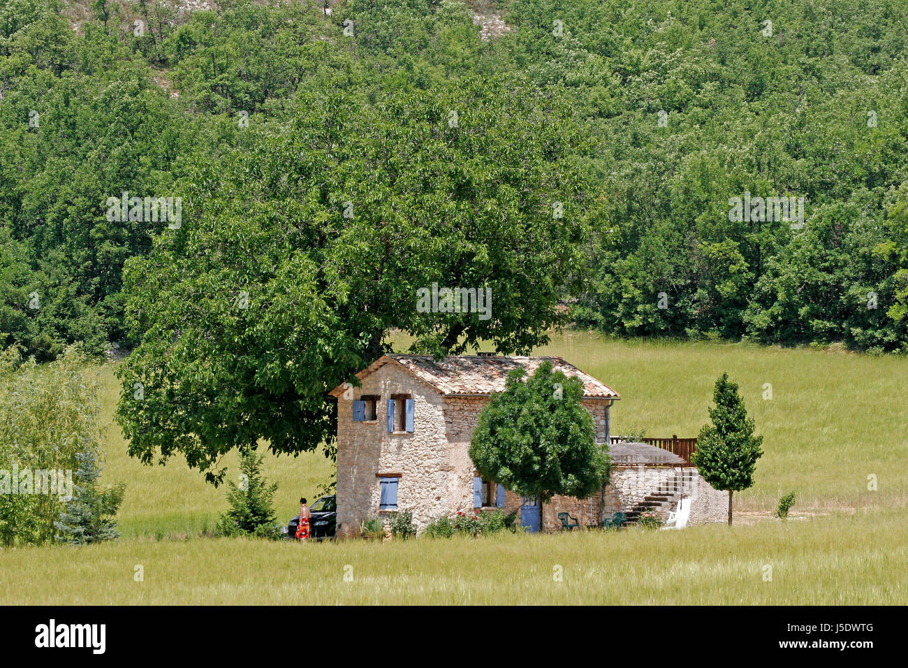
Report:
<svg viewBox="0 0 908 668"><path fill-rule="evenodd" d="M555 494L585 498L608 482L607 445L596 443L583 384L548 360L524 380L508 374L505 390L479 414L469 456L483 478L543 502Z"/></svg>

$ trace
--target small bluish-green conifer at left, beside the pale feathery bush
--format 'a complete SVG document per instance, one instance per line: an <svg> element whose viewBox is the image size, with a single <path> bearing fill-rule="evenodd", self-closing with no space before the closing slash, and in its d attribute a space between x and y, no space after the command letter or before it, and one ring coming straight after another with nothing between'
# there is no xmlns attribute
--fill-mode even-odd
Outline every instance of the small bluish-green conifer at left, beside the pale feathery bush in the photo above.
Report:
<svg viewBox="0 0 908 668"><path fill-rule="evenodd" d="M54 522L54 539L72 545L114 540L120 535L114 518L123 503L126 485L116 484L104 491L98 489L102 467L94 446L85 447L76 454L76 459L79 468L73 476L73 497Z"/></svg>

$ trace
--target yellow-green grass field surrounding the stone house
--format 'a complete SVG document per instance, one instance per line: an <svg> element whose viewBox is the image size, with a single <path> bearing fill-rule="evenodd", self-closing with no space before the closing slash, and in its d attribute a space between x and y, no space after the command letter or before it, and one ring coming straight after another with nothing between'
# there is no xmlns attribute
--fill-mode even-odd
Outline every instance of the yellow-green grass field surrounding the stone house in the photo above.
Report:
<svg viewBox="0 0 908 668"><path fill-rule="evenodd" d="M727 371L765 436L755 487L735 495L742 523L407 543L212 539L204 532L224 490L180 460L131 460L112 423L103 480L128 484L123 538L0 552L0 603L905 603L908 360L583 333L536 354L560 355L621 394L614 434L696 435ZM110 420L112 365L100 374ZM281 521L331 465L321 454L268 457ZM795 517L769 519L790 490Z"/></svg>

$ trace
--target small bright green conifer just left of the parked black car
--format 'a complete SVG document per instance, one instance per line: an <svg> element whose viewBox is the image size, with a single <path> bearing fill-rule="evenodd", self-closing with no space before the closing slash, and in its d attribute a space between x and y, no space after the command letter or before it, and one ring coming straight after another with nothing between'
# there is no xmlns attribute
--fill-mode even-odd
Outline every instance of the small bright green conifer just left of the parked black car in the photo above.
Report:
<svg viewBox="0 0 908 668"><path fill-rule="evenodd" d="M274 537L277 533L271 500L277 484L268 484L262 475L262 456L250 450L240 457L240 484L228 482L230 509L221 515L224 535L249 533Z"/></svg>

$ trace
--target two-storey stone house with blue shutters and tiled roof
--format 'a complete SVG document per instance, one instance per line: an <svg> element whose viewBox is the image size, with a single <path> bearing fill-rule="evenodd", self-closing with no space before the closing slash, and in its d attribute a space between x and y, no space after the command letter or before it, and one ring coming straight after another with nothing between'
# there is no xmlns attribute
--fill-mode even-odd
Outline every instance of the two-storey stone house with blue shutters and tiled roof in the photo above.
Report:
<svg viewBox="0 0 908 668"><path fill-rule="evenodd" d="M355 533L367 517L390 520L398 509L412 511L422 529L443 514L495 508L517 510L528 531L553 531L560 527L560 512L581 525L601 523L617 511L633 517L653 503L672 505L682 495L695 498L691 522L723 519L725 493L709 487L683 459L646 444L613 445L610 484L592 498L557 496L540 507L538 499L480 478L468 452L479 412L491 394L504 389L508 372L521 366L532 374L544 360L581 380L597 442L609 443L609 411L620 397L559 357L463 355L436 361L388 354L357 374L360 387L346 383L332 390L338 402L339 533Z"/></svg>

